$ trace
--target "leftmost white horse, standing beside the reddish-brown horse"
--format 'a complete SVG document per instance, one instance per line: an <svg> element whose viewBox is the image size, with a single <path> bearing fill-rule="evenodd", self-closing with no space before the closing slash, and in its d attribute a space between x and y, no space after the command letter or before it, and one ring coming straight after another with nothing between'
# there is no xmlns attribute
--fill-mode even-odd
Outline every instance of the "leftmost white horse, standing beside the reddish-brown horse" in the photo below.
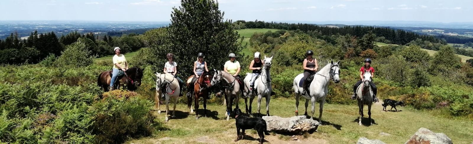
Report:
<svg viewBox="0 0 473 144"><path fill-rule="evenodd" d="M161 113L159 101L161 99L161 94L165 92L166 94L166 122L169 121L167 118L167 113L169 111L169 99L174 98L174 110L171 117L175 118L175 110L177 99L179 99L179 93L181 93L181 89L179 88L179 80L177 80L174 75L166 74L166 73L158 73L156 72L156 96L154 110L158 110L158 113Z"/></svg>

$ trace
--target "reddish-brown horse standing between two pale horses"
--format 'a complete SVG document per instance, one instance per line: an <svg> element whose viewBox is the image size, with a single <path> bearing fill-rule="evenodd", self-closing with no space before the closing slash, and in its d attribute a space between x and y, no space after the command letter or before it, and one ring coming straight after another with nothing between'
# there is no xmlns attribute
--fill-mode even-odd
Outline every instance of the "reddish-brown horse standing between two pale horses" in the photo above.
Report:
<svg viewBox="0 0 473 144"><path fill-rule="evenodd" d="M204 117L207 117L207 97L209 97L209 92L210 92L210 80L212 79L210 77L210 73L204 72L202 75L195 80L194 83L191 84L192 79L194 78L194 75L190 76L187 78L187 87L193 87L193 95L194 95L194 109L195 109L195 119L199 119L199 97L202 97L204 100ZM191 109L192 113L192 96L187 97L187 106L189 109Z"/></svg>

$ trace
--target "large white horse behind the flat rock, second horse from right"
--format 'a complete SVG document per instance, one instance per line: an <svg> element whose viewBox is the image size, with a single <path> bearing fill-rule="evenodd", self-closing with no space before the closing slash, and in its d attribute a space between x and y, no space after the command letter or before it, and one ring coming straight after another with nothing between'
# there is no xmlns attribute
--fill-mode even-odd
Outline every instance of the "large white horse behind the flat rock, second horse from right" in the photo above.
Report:
<svg viewBox="0 0 473 144"><path fill-rule="evenodd" d="M319 110L319 123L322 124L322 111L324 110L324 103L325 103L325 98L327 97L328 93L328 83L329 80L332 79L335 81L335 83L340 82L340 68L338 66L340 64L340 61L337 63L333 63L333 60L325 65L319 72L315 73L314 80L310 83L310 86L308 88L308 94L307 95L302 95L304 98L306 98L306 112L304 115L307 115L307 106L308 106L308 100L311 101L312 103L312 115L310 116L310 119L314 117L314 112L315 112L315 101L320 101L320 110ZM300 80L304 77L304 73L299 74L294 78L293 82L293 88L294 88L294 94L296 95L296 116L299 115L298 112L298 107L299 107L299 95L302 93L303 88L299 87L299 82Z"/></svg>

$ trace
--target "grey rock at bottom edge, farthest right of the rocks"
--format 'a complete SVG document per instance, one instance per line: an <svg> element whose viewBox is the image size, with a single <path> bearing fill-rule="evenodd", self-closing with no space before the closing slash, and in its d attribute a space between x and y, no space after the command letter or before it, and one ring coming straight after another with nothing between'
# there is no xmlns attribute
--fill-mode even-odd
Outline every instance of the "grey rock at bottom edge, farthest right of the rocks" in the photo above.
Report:
<svg viewBox="0 0 473 144"><path fill-rule="evenodd" d="M453 144L452 139L443 133L434 133L427 128L419 128L405 144Z"/></svg>

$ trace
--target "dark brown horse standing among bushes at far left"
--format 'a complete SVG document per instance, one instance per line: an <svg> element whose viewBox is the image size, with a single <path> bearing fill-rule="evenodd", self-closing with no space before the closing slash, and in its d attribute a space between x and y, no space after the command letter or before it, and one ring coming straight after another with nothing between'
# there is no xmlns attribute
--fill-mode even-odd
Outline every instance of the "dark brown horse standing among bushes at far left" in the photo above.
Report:
<svg viewBox="0 0 473 144"><path fill-rule="evenodd" d="M141 85L141 78L143 77L143 69L138 67L131 67L125 71L125 76L115 80L114 89L126 86L128 90L136 90L136 86ZM112 71L105 71L98 75L97 85L103 88L105 92L109 91L110 80L112 79ZM120 82L121 81L121 82Z"/></svg>

